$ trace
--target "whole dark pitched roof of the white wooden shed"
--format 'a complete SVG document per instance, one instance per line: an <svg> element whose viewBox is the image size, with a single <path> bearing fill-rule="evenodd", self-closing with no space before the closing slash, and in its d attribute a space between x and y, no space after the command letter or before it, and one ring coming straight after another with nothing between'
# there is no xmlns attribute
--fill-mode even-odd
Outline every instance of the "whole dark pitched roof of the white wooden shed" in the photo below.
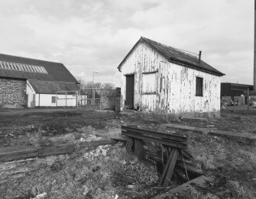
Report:
<svg viewBox="0 0 256 199"><path fill-rule="evenodd" d="M162 43L158 43L154 40L150 40L145 37L141 37L141 39L138 40L138 42L134 45L134 47L131 49L128 55L125 56L125 59L128 58L132 50L134 50L134 48L140 42L147 43L147 45L151 46L154 50L157 50L158 53L165 56L171 63L177 63L182 66L197 69L203 72L209 72L214 75L219 75L219 76L225 75L224 73L219 72L219 70L213 68L209 64L203 62L202 59L199 62L199 59L196 56L191 56L190 54L184 53L181 50L178 50L173 47L168 47ZM125 62L125 59L122 60L122 63ZM118 69L122 68L122 63L119 64Z"/></svg>

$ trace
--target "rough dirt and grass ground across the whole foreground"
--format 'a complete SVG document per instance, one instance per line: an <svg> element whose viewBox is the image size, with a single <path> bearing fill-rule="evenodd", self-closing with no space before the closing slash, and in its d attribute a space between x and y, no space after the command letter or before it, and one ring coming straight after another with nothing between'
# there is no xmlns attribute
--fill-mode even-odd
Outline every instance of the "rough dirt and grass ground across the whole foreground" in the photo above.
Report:
<svg viewBox="0 0 256 199"><path fill-rule="evenodd" d="M221 118L203 121L169 122L194 127L256 133L256 111L222 110ZM33 109L0 111L0 144L37 146L58 136L66 140L87 136L108 138L121 133L121 125L169 132L160 127L166 120L151 114L84 109ZM170 132L173 133L173 132ZM208 188L194 188L175 198L256 198L256 147L232 140L189 133L193 163L214 178ZM105 147L105 148L104 148ZM56 162L50 168L42 165L24 178L8 178L0 185L1 198L31 198L47 193L45 198L151 198L164 192L157 187L159 174L154 163L139 162L125 152L122 143L104 146L92 153L76 152L70 159ZM128 175L130 181L120 176ZM127 176L126 176L127 177ZM133 179L133 180L131 180ZM171 186L180 182L173 176Z"/></svg>

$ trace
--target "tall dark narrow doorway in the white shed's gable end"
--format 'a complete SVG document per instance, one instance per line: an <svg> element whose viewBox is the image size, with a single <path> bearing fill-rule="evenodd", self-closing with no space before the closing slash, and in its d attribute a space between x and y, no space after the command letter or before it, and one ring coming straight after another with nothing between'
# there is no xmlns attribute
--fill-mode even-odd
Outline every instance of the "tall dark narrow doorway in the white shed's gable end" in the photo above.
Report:
<svg viewBox="0 0 256 199"><path fill-rule="evenodd" d="M134 109L134 75L126 75L125 108Z"/></svg>

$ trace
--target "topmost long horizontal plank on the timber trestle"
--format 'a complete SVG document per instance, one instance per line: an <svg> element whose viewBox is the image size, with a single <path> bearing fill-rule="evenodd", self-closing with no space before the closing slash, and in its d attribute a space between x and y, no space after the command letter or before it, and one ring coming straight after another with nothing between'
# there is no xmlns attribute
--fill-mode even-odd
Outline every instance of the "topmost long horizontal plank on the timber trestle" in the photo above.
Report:
<svg viewBox="0 0 256 199"><path fill-rule="evenodd" d="M139 129L136 127L131 127L131 126L122 126L122 130L128 130L134 133L141 133L141 134L147 134L147 135L152 135L152 136L159 136L161 138L167 139L167 140L176 140L180 142L186 142L186 136L180 136L180 135L173 135L169 133L162 133L162 132L156 132L153 130L144 130L144 129Z"/></svg>

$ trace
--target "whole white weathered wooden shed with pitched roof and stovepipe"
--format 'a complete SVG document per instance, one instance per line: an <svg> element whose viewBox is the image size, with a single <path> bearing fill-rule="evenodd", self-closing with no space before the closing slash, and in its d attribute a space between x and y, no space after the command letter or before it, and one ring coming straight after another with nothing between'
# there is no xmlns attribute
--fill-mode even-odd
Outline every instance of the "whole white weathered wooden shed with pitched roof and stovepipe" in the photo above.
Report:
<svg viewBox="0 0 256 199"><path fill-rule="evenodd" d="M200 56L141 37L118 70L122 72L123 109L219 116L224 74Z"/></svg>

